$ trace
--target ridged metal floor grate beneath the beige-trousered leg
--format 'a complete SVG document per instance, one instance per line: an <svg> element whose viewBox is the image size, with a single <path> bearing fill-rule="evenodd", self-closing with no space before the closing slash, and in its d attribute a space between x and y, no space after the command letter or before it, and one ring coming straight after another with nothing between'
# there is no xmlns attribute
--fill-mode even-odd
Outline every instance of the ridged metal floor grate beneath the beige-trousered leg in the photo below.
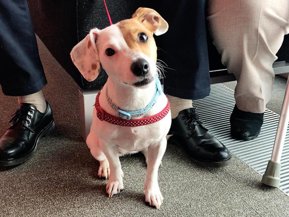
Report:
<svg viewBox="0 0 289 217"><path fill-rule="evenodd" d="M264 123L259 136L251 141L231 138L230 115L235 105L234 91L222 84L212 84L210 96L194 100L199 105L197 113L209 131L232 153L242 159L260 174L264 174L271 158L279 115L266 109ZM286 134L281 158L280 189L289 194L289 130ZM261 181L261 180L260 180Z"/></svg>

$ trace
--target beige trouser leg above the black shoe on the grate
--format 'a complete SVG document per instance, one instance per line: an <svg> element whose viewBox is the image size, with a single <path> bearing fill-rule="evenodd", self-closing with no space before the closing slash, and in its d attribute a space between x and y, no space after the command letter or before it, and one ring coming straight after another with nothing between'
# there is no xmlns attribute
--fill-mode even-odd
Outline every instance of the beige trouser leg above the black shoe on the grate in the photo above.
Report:
<svg viewBox="0 0 289 217"><path fill-rule="evenodd" d="M238 81L237 107L264 112L273 88L272 64L289 33L289 0L209 0L207 15L222 63Z"/></svg>

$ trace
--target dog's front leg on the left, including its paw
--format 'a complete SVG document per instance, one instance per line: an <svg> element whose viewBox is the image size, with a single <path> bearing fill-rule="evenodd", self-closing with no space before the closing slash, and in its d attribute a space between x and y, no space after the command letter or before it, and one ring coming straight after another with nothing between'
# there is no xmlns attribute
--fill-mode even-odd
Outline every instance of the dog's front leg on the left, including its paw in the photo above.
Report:
<svg viewBox="0 0 289 217"><path fill-rule="evenodd" d="M104 141L99 141L99 144L110 165L106 192L108 197L112 197L113 194L120 193L123 190L123 171L118 156L118 146L117 144L106 144Z"/></svg>

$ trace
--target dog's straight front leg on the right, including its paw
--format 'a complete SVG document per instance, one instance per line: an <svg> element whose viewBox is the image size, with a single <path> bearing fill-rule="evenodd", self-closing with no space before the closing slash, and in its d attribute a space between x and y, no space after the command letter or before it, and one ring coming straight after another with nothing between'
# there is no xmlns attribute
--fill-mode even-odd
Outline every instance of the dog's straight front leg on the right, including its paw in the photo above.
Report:
<svg viewBox="0 0 289 217"><path fill-rule="evenodd" d="M160 143L152 144L148 147L148 168L144 183L145 201L157 209L163 203L163 195L160 192L157 181L157 172L166 150L166 143L167 141L164 137Z"/></svg>

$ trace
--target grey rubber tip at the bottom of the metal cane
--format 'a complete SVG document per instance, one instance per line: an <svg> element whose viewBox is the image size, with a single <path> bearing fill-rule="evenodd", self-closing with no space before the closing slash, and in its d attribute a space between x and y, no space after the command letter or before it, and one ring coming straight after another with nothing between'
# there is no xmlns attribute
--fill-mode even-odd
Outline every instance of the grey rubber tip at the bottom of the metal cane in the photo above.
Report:
<svg viewBox="0 0 289 217"><path fill-rule="evenodd" d="M280 185L280 168L281 163L276 163L273 161L269 161L267 164L266 171L262 176L262 183L272 186L279 187Z"/></svg>

